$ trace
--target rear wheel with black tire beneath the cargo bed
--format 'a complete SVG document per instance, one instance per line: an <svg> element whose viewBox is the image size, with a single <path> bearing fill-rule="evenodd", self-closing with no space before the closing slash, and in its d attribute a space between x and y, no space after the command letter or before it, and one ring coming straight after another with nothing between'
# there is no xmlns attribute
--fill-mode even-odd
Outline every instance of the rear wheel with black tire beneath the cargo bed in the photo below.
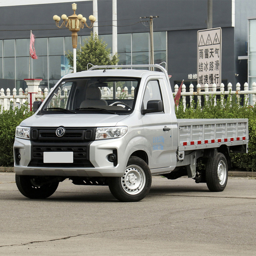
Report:
<svg viewBox="0 0 256 256"><path fill-rule="evenodd" d="M217 153L209 158L205 173L206 184L210 191L223 191L228 181L228 163L222 153Z"/></svg>

